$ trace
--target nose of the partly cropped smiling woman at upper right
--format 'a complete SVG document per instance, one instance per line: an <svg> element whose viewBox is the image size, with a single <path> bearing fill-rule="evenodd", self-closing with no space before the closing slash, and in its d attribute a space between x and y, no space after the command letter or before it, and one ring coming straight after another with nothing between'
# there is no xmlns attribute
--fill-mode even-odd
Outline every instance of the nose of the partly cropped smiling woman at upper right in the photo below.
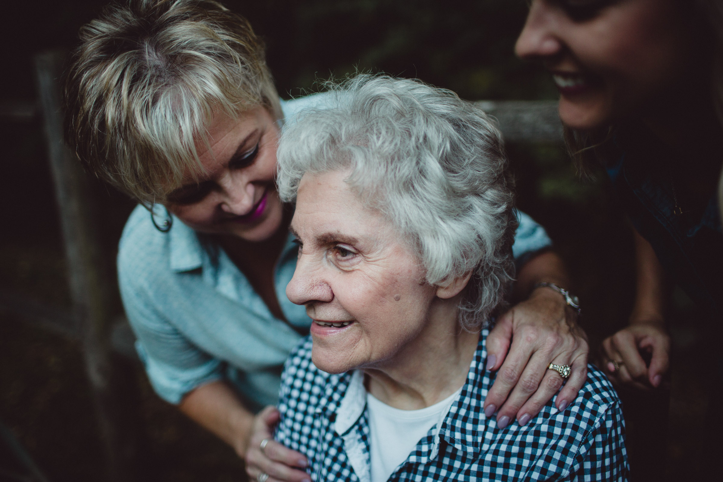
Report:
<svg viewBox="0 0 723 482"><path fill-rule="evenodd" d="M560 53L562 40L557 35L560 14L547 0L534 0L525 26L515 43L517 56L530 59Z"/></svg>

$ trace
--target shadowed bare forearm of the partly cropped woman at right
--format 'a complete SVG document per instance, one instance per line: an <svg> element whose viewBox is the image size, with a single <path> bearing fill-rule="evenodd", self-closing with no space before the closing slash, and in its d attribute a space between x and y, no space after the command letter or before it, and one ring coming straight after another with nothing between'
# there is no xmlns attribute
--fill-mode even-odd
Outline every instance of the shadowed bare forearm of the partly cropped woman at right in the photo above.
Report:
<svg viewBox="0 0 723 482"><path fill-rule="evenodd" d="M662 265L653 247L633 231L636 251L636 299L630 324L664 324L664 298L667 286Z"/></svg>

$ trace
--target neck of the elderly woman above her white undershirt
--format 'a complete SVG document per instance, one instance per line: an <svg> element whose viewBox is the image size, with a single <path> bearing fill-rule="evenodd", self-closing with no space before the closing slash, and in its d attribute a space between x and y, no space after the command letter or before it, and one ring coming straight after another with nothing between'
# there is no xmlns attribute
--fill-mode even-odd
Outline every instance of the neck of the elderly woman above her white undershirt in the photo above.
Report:
<svg viewBox="0 0 723 482"><path fill-rule="evenodd" d="M364 369L367 390L383 403L403 410L434 405L466 382L479 343L479 332L463 330L459 297L435 298L429 321L393 358Z"/></svg>

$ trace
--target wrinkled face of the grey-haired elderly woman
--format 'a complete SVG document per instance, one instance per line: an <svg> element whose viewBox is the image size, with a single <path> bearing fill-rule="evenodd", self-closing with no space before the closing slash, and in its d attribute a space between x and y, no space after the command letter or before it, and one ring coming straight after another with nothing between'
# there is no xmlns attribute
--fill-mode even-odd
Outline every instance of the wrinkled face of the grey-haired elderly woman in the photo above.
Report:
<svg viewBox="0 0 723 482"><path fill-rule="evenodd" d="M362 205L346 176L304 174L291 221L301 247L286 296L306 305L312 359L329 373L393 358L426 326L436 293L411 249Z"/></svg>

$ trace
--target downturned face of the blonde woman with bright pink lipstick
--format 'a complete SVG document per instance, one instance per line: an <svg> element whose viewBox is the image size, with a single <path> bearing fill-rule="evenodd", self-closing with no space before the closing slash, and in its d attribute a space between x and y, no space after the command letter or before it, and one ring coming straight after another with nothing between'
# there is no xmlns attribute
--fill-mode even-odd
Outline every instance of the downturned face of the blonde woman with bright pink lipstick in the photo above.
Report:
<svg viewBox="0 0 723 482"><path fill-rule="evenodd" d="M238 119L215 116L208 145L197 143L205 174L168 195L166 206L202 233L263 241L281 227L274 184L278 126L263 107Z"/></svg>

